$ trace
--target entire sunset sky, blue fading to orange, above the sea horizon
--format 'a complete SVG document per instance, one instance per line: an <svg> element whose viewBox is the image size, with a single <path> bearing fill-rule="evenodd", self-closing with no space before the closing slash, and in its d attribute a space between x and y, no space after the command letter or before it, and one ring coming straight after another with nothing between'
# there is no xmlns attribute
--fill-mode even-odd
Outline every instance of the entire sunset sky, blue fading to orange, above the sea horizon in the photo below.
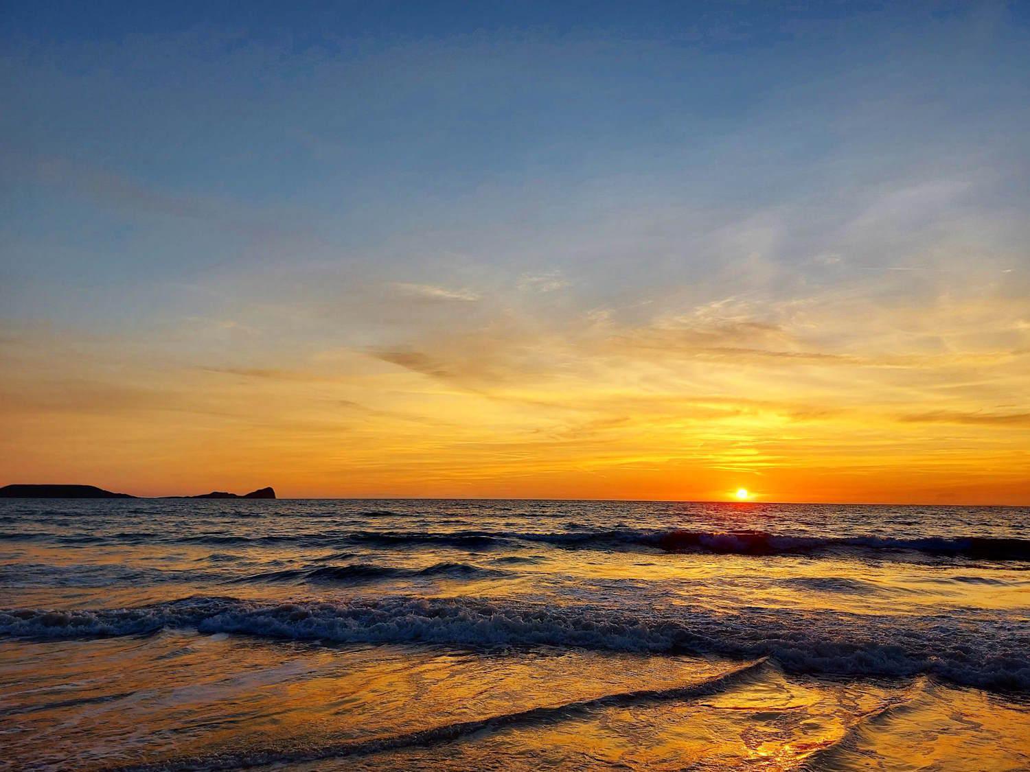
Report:
<svg viewBox="0 0 1030 772"><path fill-rule="evenodd" d="M1030 504L1023 3L0 13L0 485Z"/></svg>

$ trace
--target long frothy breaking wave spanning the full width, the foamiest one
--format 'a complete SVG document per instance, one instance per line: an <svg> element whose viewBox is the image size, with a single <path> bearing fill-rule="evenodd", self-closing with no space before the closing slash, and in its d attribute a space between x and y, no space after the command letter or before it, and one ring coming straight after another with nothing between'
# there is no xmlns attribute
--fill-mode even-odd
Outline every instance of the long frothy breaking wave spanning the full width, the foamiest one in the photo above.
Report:
<svg viewBox="0 0 1030 772"><path fill-rule="evenodd" d="M199 596L136 608L0 611L0 634L32 638L137 635L174 627L345 643L767 656L789 671L932 673L984 689L1030 690L1030 620L957 609L923 617L702 606L629 612L473 597L263 604Z"/></svg>

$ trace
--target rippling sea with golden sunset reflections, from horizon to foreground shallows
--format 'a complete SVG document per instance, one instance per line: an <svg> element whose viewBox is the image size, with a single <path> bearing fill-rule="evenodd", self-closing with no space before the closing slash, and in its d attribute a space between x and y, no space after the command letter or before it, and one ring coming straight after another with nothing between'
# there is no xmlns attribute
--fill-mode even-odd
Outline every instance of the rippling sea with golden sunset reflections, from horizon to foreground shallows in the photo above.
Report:
<svg viewBox="0 0 1030 772"><path fill-rule="evenodd" d="M1028 770L1030 510L0 501L0 767Z"/></svg>

